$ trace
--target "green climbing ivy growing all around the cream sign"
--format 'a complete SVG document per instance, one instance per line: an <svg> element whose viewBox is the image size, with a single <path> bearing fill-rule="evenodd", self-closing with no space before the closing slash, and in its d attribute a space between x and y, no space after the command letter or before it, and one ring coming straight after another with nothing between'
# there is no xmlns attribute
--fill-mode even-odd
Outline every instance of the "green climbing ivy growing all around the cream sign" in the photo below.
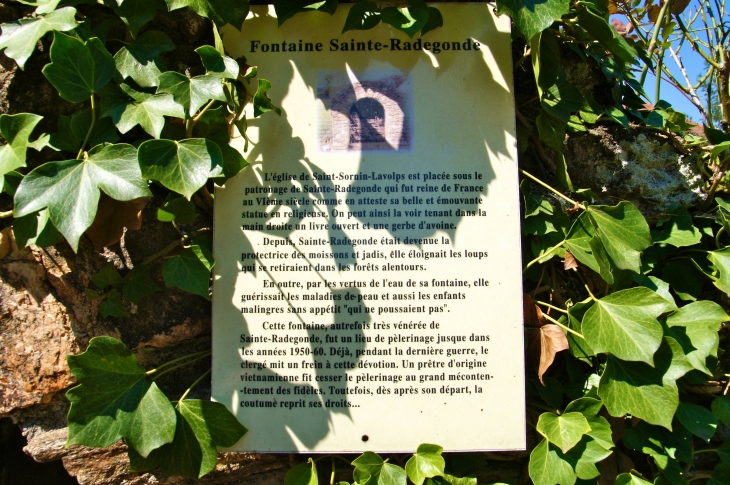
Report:
<svg viewBox="0 0 730 485"><path fill-rule="evenodd" d="M76 110L60 116L50 134L36 133L41 121L36 114L0 116L6 142L0 148L0 187L14 201L0 217L13 218L17 244L65 240L76 251L84 234L100 245L117 242L109 214L137 212L154 184L169 194L157 217L180 237L125 274L105 266L93 276L87 296L101 302L102 315L127 316L128 302L160 291L150 263L165 258L168 287L209 298L215 264L211 229L185 228L198 209L214 205L213 184L247 165L248 120L280 114L267 95L271 83L259 77L266 66L231 58L220 39L223 25L245 26L248 3L20 3L32 13L0 26L0 50L24 69L38 41L52 39L43 75ZM274 2L280 25L302 12L332 14L337 6L337 0ZM108 25L84 14L91 8L119 17L124 39L109 37ZM176 46L148 26L155 15L183 8L206 19L212 33L213 45L195 49L205 74L166 66L162 54ZM690 8L687 0L498 0L496 11L512 18L515 76L520 82L527 76L534 90L516 112L524 281L530 293L528 423L539 437L530 453L530 478L537 485L595 483L598 463L610 459L618 463L620 485L730 483L730 445L709 444L719 428L730 427L725 395L730 381L721 345L730 321L725 7L714 0ZM360 0L350 8L343 32L383 22L413 37L448 21L421 0ZM703 58L707 68L700 79L689 79L681 49ZM667 66L667 55L678 71ZM574 83L565 69L571 58L600 73L605 92ZM649 72L659 80L653 98L643 88ZM704 126L660 99L662 77L699 109ZM600 194L571 181L564 142L603 125L647 130L671 144L696 171L702 202L671 206L649 222L629 201L594 203ZM234 136L244 138L242 152L230 145ZM31 170L29 149L53 150L56 156ZM232 446L245 428L223 405L187 398L207 373L177 400L155 383L209 355L181 356L145 370L119 340L92 339L84 353L68 356L79 381L67 393L69 444L123 440L133 471L162 467L169 475L193 478L209 473L216 447ZM698 466L700 454L713 458ZM629 455L646 460L626 467ZM340 456L295 466L285 484L318 483L318 462L325 458L333 484ZM358 484L477 483L469 467L444 460L433 444L420 445L404 467L371 452L345 461Z"/></svg>

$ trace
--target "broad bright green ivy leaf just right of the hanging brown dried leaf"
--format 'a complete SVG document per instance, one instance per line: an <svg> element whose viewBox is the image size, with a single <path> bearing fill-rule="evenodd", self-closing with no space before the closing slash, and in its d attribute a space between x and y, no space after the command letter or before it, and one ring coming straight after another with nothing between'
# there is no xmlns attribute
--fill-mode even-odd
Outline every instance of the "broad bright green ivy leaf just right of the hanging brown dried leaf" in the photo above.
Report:
<svg viewBox="0 0 730 485"><path fill-rule="evenodd" d="M586 312L581 328L596 352L652 364L664 333L657 317L669 308L648 288L621 290L598 300Z"/></svg>

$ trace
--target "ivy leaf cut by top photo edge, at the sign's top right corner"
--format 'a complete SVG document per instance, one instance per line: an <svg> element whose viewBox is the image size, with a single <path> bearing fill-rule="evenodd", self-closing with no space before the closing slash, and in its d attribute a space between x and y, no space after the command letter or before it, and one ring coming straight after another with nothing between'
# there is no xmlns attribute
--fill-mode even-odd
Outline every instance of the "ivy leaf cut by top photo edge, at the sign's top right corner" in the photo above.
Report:
<svg viewBox="0 0 730 485"><path fill-rule="evenodd" d="M512 17L517 30L528 41L532 36L550 27L570 10L567 0L499 0L497 13Z"/></svg>

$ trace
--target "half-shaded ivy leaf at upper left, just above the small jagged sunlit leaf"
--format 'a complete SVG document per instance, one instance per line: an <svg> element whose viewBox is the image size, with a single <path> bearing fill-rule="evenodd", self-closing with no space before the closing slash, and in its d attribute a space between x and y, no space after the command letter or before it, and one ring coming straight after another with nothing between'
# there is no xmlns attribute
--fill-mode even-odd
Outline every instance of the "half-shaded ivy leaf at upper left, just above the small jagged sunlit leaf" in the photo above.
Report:
<svg viewBox="0 0 730 485"><path fill-rule="evenodd" d="M157 30L148 30L114 54L114 63L122 78L131 78L143 88L157 86L159 77L167 69L160 57L175 49L168 36Z"/></svg>

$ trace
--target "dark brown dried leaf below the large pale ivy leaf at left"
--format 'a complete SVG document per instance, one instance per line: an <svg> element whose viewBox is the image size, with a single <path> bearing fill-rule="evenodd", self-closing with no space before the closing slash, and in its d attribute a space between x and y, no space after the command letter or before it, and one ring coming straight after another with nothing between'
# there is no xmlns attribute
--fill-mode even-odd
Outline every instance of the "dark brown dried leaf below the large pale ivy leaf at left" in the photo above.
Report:
<svg viewBox="0 0 730 485"><path fill-rule="evenodd" d="M140 197L122 202L102 193L94 222L86 230L86 235L94 243L94 247L99 250L119 242L125 227L131 231L141 228L142 209L149 201L149 197Z"/></svg>

